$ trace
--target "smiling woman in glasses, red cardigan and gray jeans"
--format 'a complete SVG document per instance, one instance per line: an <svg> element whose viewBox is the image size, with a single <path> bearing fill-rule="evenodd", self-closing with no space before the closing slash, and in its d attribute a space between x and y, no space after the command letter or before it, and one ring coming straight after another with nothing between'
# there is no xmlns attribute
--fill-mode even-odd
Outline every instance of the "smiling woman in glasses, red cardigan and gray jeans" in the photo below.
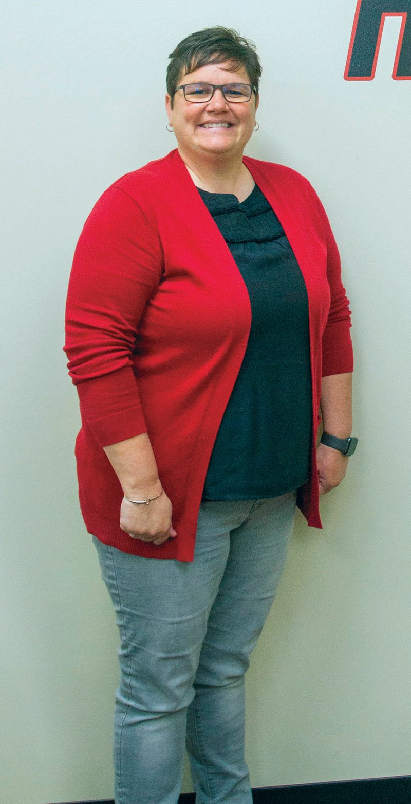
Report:
<svg viewBox="0 0 411 804"><path fill-rule="evenodd" d="M116 804L175 804L185 740L197 804L249 804L250 651L296 502L321 527L356 442L350 314L310 183L243 157L252 43L210 28L170 59L177 150L112 184L75 250L79 497L120 629Z"/></svg>

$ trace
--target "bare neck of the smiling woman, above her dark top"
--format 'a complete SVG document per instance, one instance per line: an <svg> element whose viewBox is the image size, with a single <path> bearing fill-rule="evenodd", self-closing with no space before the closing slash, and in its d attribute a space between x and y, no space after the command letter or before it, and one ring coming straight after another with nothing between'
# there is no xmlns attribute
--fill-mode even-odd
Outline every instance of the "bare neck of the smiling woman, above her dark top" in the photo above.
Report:
<svg viewBox="0 0 411 804"><path fill-rule="evenodd" d="M193 183L201 190L246 198L254 187L254 179L242 162L242 154L232 158L227 158L226 154L205 154L200 160L180 149L178 151Z"/></svg>

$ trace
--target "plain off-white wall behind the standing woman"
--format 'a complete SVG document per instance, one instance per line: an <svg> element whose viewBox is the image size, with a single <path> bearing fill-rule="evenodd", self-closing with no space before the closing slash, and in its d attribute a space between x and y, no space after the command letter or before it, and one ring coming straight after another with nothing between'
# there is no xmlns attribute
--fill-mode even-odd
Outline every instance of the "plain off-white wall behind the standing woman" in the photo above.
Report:
<svg viewBox="0 0 411 804"><path fill-rule="evenodd" d="M2 23L4 804L112 797L116 626L77 503L63 306L83 221L108 184L174 147L167 56L236 27L262 58L248 153L310 178L352 301L355 432L324 531L295 527L247 676L253 786L410 772L409 81L343 79L355 0L10 4ZM407 405L407 409L406 409ZM184 790L190 789L188 774Z"/></svg>

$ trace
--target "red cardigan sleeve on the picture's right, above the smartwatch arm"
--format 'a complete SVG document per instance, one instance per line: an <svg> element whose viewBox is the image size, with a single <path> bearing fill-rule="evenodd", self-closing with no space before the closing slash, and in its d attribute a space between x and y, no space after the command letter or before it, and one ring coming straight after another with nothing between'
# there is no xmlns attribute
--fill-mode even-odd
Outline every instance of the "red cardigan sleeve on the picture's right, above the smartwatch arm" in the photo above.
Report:
<svg viewBox="0 0 411 804"><path fill-rule="evenodd" d="M331 293L328 320L322 337L322 375L326 377L353 370L351 310L341 281L341 260L336 240L327 213L316 193L315 199L327 244L327 278Z"/></svg>

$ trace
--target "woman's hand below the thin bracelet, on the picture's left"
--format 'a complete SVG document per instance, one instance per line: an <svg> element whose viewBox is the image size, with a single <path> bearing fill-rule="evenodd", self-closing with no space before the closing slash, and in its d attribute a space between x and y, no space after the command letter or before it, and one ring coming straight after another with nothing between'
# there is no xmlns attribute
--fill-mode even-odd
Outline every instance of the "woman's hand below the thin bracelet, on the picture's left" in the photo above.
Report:
<svg viewBox="0 0 411 804"><path fill-rule="evenodd" d="M163 489L160 497L149 505L129 503L124 497L120 507L120 528L132 539L153 544L165 544L177 536L171 521L173 506Z"/></svg>

